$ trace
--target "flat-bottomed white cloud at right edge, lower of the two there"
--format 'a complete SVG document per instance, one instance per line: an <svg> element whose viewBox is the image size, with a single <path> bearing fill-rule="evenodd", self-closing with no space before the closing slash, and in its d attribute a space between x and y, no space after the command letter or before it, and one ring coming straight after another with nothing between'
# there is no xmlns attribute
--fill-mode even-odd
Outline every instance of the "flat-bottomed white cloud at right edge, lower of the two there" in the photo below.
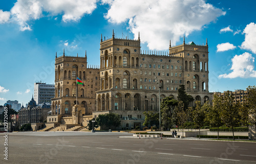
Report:
<svg viewBox="0 0 256 164"><path fill-rule="evenodd" d="M242 55L236 55L232 59L232 70L229 74L220 75L219 78L250 78L256 77L256 71L254 70L254 57L249 53L243 53Z"/></svg>

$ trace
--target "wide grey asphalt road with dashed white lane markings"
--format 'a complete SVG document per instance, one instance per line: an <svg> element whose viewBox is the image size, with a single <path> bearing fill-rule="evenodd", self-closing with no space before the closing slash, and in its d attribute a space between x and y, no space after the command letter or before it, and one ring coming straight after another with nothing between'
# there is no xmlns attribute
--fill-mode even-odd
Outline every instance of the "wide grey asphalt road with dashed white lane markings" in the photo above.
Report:
<svg viewBox="0 0 256 164"><path fill-rule="evenodd" d="M0 133L0 163L256 163L256 143L146 139L113 132Z"/></svg>

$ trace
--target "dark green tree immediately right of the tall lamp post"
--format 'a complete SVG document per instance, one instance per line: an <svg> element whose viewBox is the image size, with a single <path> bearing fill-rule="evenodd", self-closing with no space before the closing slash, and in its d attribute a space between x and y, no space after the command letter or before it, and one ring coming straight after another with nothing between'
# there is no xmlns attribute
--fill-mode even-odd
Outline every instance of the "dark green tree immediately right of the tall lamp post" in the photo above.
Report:
<svg viewBox="0 0 256 164"><path fill-rule="evenodd" d="M162 126L166 128L172 127L172 113L175 106L178 105L178 100L172 97L166 97L161 102L161 120Z"/></svg>

